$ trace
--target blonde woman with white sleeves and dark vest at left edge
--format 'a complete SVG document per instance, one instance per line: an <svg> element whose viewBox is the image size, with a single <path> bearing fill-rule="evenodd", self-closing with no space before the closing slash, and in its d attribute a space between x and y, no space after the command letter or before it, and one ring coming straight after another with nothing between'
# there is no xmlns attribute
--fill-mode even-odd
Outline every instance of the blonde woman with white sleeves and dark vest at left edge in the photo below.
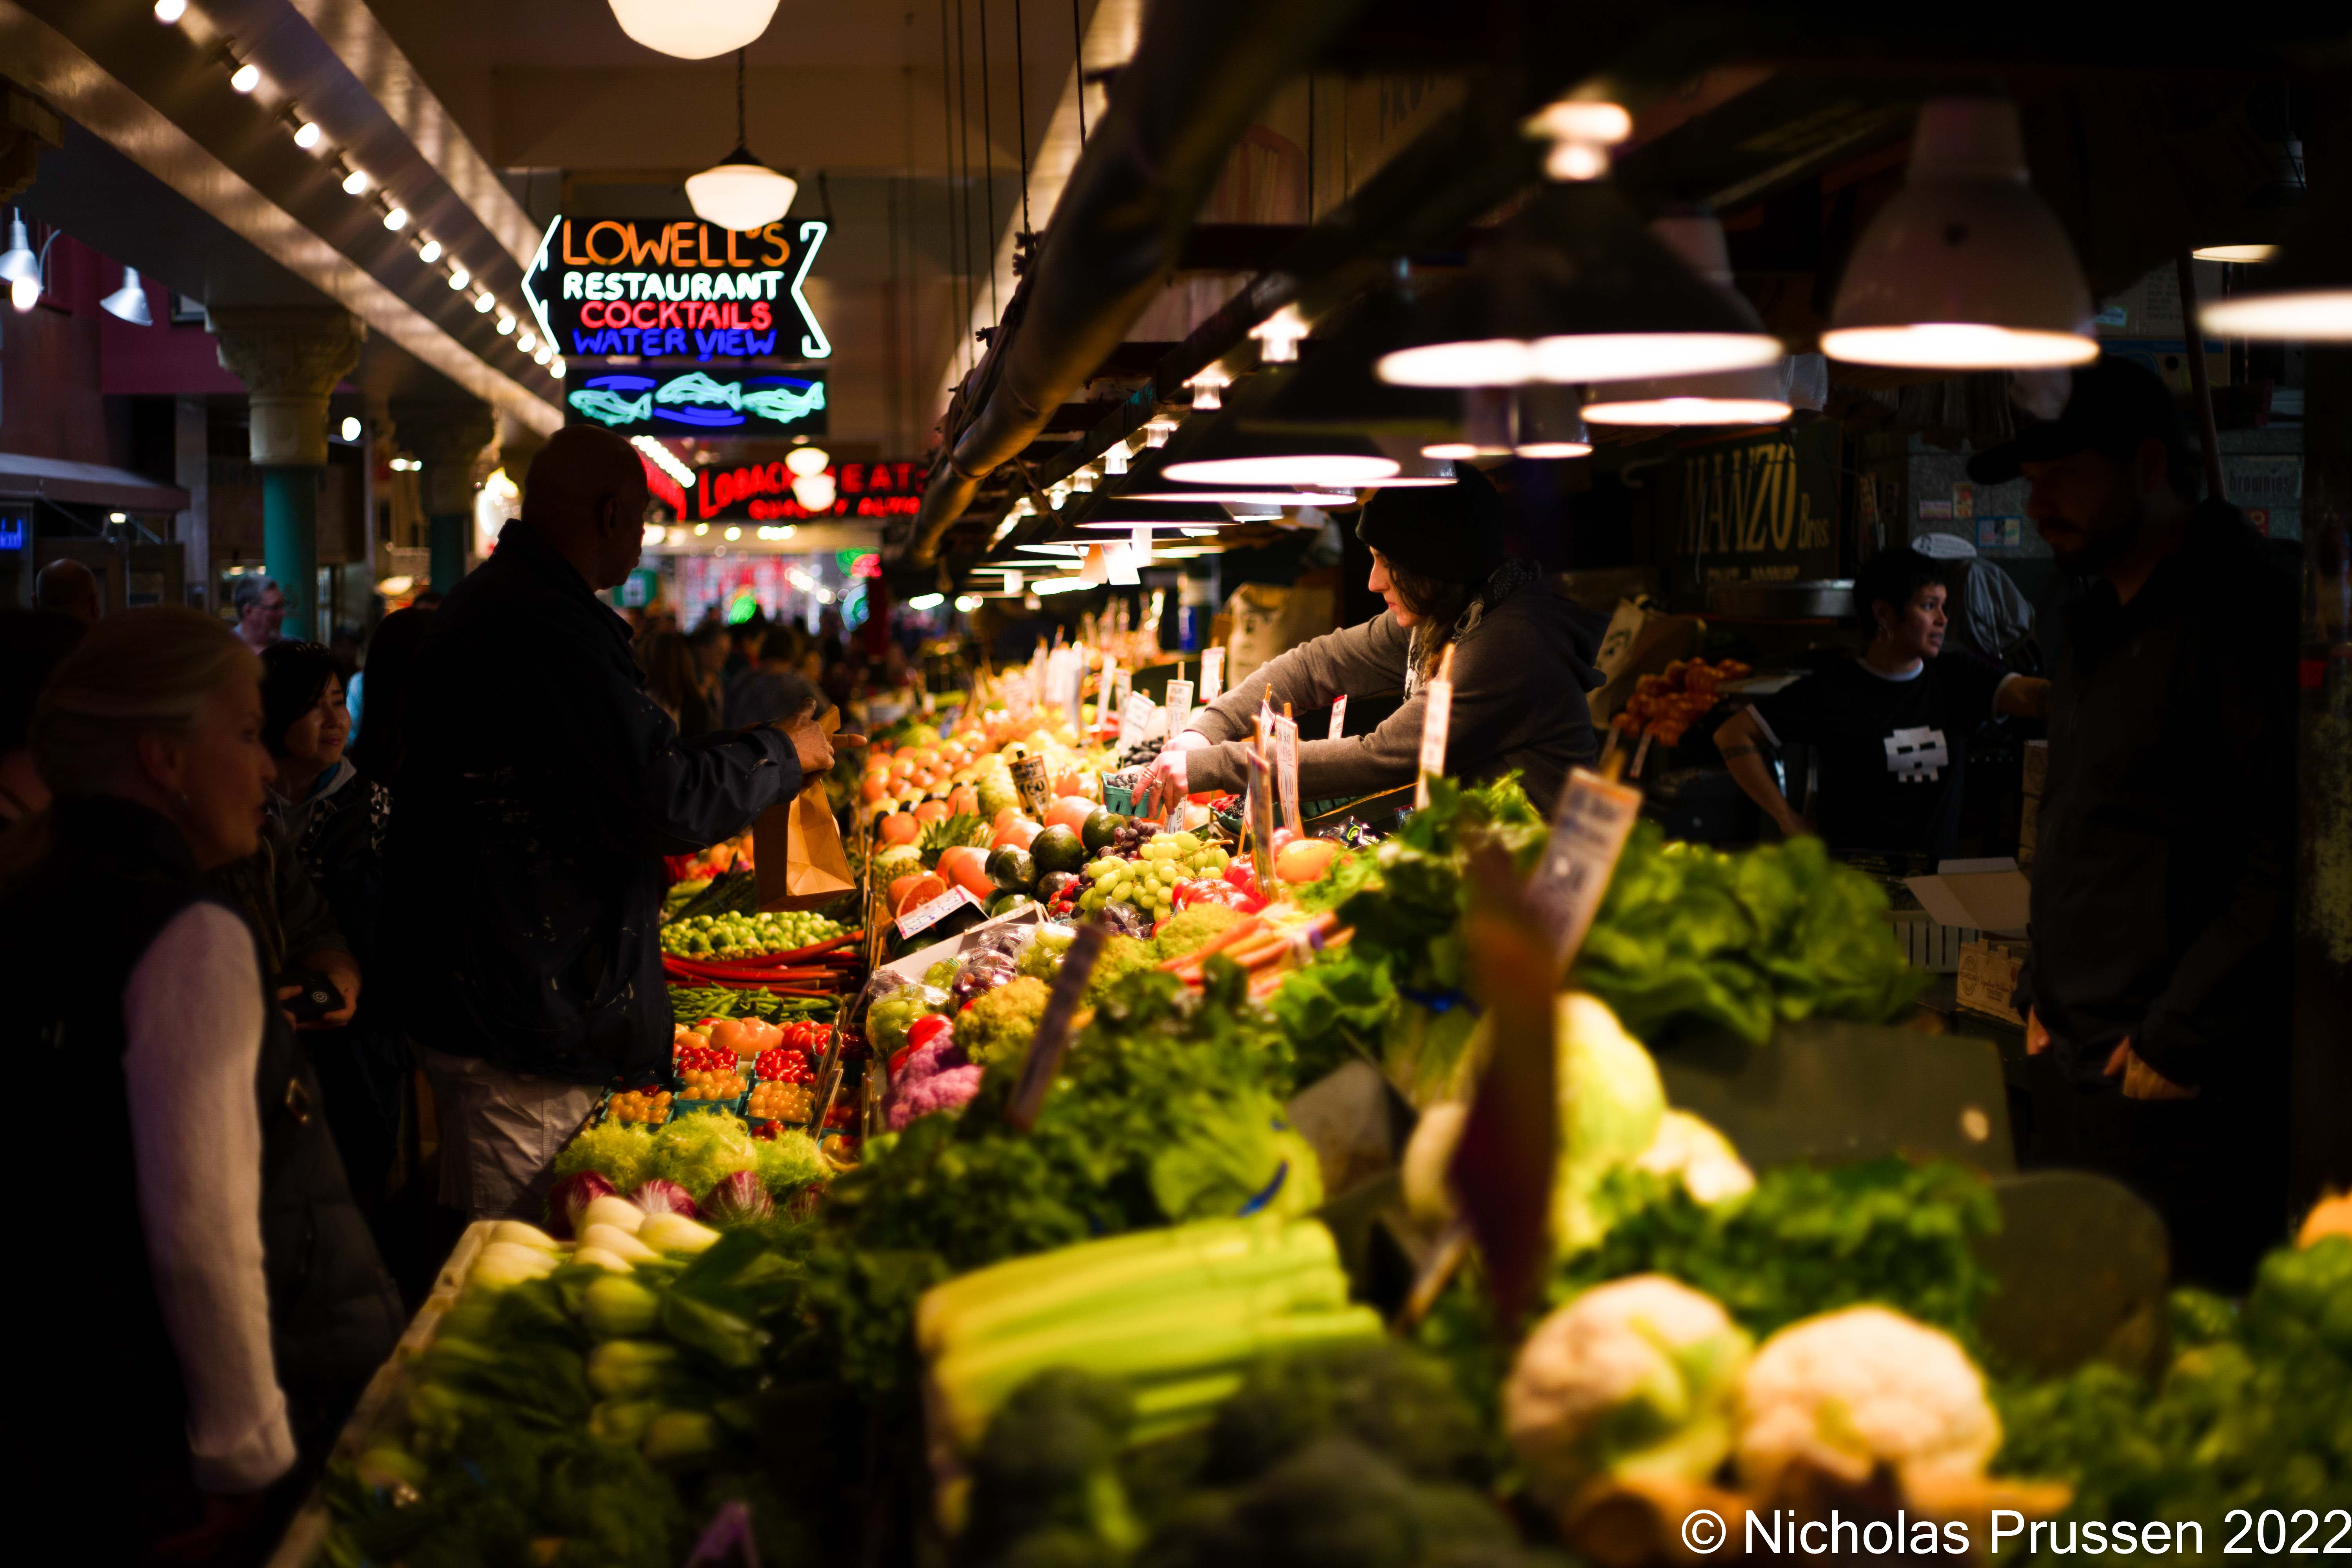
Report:
<svg viewBox="0 0 2352 1568"><path fill-rule="evenodd" d="M202 891L259 839L259 677L198 611L108 616L33 715L54 802L0 846L0 1030L56 1095L19 1157L75 1182L73 1333L103 1347L9 1462L89 1561L266 1530L301 1439L400 1328L254 936Z"/></svg>

